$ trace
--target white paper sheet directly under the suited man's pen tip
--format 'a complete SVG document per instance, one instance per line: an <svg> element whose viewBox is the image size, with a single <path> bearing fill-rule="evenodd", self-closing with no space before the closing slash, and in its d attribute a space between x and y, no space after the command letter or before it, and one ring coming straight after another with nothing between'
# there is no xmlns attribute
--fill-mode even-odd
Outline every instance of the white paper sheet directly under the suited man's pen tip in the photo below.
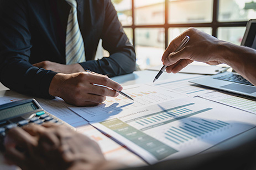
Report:
<svg viewBox="0 0 256 170"><path fill-rule="evenodd" d="M184 97L184 95L147 84L124 86L123 92L132 97L134 101L119 95L117 97L107 97L106 101L98 106L76 107L67 103L64 103L64 105L88 120L88 122L93 122L105 120L121 112L130 113L133 109Z"/></svg>

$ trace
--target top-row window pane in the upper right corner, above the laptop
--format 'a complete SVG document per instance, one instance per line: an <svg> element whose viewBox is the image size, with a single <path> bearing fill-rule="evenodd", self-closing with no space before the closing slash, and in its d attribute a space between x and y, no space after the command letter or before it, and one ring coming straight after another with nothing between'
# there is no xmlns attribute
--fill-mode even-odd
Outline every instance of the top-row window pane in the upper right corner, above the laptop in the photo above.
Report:
<svg viewBox="0 0 256 170"><path fill-rule="evenodd" d="M256 18L255 0L220 0L219 21L247 21Z"/></svg>

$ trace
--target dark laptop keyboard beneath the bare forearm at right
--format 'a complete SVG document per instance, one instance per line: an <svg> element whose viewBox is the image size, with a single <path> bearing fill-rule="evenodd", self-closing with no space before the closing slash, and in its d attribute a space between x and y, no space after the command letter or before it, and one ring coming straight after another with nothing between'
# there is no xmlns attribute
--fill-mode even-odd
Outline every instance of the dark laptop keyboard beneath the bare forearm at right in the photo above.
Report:
<svg viewBox="0 0 256 170"><path fill-rule="evenodd" d="M232 74L232 73L231 74L222 75L222 76L218 76L218 77L215 77L213 79L230 81L230 82L234 82L234 83L246 84L246 85L253 86L253 84L251 84L249 81L244 79L241 75L236 75L236 74Z"/></svg>

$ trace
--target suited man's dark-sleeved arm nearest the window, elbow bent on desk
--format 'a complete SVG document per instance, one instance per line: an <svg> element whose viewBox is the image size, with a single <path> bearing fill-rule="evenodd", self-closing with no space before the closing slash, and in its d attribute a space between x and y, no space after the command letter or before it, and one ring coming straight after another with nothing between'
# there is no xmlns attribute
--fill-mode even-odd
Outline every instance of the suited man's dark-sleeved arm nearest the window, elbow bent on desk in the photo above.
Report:
<svg viewBox="0 0 256 170"><path fill-rule="evenodd" d="M101 39L103 48L110 56L80 64L85 69L96 70L97 73L108 76L132 73L136 62L134 47L123 31L113 4L110 0L106 0L105 3L105 23Z"/></svg>

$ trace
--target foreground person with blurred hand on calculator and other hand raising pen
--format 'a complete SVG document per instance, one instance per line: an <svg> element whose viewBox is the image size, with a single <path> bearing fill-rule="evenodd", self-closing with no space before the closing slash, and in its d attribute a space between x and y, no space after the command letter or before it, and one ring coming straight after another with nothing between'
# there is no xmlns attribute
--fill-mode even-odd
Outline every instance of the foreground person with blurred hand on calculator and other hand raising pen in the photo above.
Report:
<svg viewBox="0 0 256 170"><path fill-rule="evenodd" d="M181 51L172 53L181 40L190 41ZM226 63L256 85L256 50L233 45L190 28L171 41L162 61L168 73L177 73L192 61ZM246 66L246 67L245 67ZM87 136L63 125L30 124L9 130L4 156L9 164L24 169L255 169L256 140L232 150L169 160L151 166L129 168L105 160L100 147Z"/></svg>

